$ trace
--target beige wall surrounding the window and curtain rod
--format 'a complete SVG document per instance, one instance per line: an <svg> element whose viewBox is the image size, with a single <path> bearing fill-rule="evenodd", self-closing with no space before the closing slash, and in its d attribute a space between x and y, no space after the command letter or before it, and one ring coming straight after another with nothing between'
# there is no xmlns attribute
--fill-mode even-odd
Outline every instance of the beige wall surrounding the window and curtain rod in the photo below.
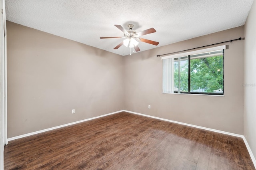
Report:
<svg viewBox="0 0 256 170"><path fill-rule="evenodd" d="M162 94L162 60L156 57L239 37L243 26L125 56L124 109L243 134L244 40L225 43L224 97Z"/></svg>

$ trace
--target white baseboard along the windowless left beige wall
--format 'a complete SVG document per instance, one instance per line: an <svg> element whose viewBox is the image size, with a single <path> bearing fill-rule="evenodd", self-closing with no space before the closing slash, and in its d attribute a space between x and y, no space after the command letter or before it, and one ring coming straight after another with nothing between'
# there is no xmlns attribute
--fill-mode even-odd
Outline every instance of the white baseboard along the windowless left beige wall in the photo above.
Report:
<svg viewBox="0 0 256 170"><path fill-rule="evenodd" d="M104 116L108 116L108 115L113 115L115 113L120 113L124 110L121 110L121 111L116 111L116 112L112 112L112 113L108 113L108 114L105 114L105 115L100 115L100 116L97 116L97 117L92 117L92 118L88 118L88 119L84 119L84 120L81 120L81 121L76 121L76 122L72 122L72 123L67 123L65 125L60 125L60 126L57 126L57 127L52 127L52 128L46 128L46 129L43 129L43 130L38 130L36 132L31 132L31 133L27 133L27 134L22 134L22 135L19 135L19 136L14 136L12 138L7 138L7 142L8 141L11 141L11 140L15 140L15 139L19 139L19 138L24 138L24 137L27 137L27 136L31 136L31 135L34 135L34 134L38 134L38 133L42 133L42 132L47 132L49 130L54 130L56 128L62 128L62 127L66 127L66 126L69 126L69 125L74 125L74 124L77 124L77 123L81 123L81 122L85 122L85 121L90 121L92 119L97 119L97 118L100 118L100 117L104 117Z"/></svg>

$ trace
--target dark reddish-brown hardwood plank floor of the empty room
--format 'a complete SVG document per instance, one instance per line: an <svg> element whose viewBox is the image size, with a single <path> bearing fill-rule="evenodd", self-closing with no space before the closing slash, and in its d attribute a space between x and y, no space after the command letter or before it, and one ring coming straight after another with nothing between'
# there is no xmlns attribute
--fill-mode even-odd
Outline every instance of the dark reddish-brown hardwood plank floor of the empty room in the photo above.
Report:
<svg viewBox="0 0 256 170"><path fill-rule="evenodd" d="M4 169L255 170L242 138L125 112L12 140Z"/></svg>

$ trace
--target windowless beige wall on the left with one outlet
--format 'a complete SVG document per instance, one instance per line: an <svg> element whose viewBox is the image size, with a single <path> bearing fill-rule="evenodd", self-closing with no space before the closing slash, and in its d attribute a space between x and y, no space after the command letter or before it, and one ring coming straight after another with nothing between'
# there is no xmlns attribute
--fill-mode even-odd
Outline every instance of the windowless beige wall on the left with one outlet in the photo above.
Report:
<svg viewBox="0 0 256 170"><path fill-rule="evenodd" d="M7 30L8 138L124 108L124 57L12 22Z"/></svg>

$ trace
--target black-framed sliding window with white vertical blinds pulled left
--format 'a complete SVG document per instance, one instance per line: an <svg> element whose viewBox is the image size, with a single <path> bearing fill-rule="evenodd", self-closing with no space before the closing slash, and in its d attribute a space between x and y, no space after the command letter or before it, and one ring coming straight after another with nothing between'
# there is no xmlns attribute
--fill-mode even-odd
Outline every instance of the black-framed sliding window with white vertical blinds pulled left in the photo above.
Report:
<svg viewBox="0 0 256 170"><path fill-rule="evenodd" d="M163 93L223 95L225 45L162 57Z"/></svg>

